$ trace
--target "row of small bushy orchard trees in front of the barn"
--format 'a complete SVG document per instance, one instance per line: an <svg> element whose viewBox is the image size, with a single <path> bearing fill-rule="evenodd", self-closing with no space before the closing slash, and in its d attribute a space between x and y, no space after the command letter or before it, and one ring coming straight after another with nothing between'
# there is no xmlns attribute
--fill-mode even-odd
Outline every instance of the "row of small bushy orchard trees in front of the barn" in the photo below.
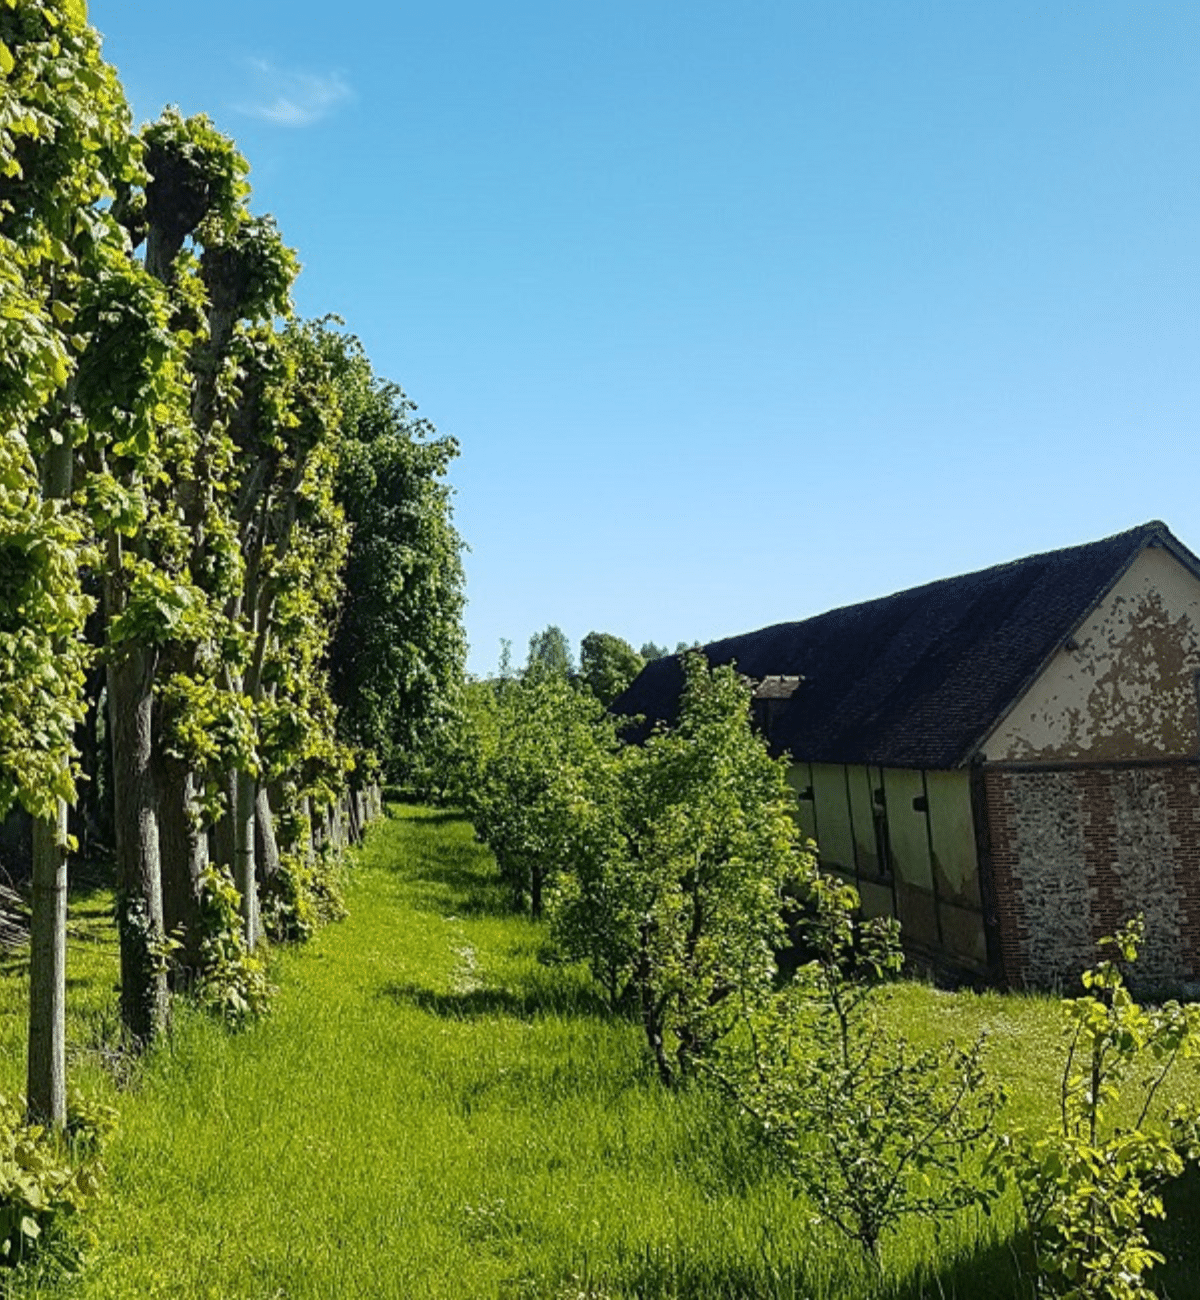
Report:
<svg viewBox="0 0 1200 1300"><path fill-rule="evenodd" d="M1200 1053L1200 1008L1139 1008L1101 962L1066 1002L1061 1122L1001 1132L983 1040L919 1049L889 1024L898 927L818 870L748 682L686 655L677 724L624 746L543 642L477 688L460 797L515 902L641 1024L662 1082L716 1087L870 1261L907 1217L1014 1188L1039 1294L1153 1294L1145 1221L1200 1154L1200 1112L1162 1086ZM1127 963L1139 937L1108 942Z"/></svg>

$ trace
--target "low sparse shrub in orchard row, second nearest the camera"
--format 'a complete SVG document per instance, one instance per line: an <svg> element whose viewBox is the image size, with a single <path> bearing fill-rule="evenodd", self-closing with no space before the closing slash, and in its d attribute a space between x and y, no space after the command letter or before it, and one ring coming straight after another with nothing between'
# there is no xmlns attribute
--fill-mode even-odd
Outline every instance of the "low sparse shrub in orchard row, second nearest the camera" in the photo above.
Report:
<svg viewBox="0 0 1200 1300"><path fill-rule="evenodd" d="M858 894L807 883L805 940L816 956L757 1010L719 1076L820 1217L879 1261L905 1221L989 1208L975 1156L1002 1093L984 1040L917 1049L880 1014L900 970L894 920L858 922Z"/></svg>

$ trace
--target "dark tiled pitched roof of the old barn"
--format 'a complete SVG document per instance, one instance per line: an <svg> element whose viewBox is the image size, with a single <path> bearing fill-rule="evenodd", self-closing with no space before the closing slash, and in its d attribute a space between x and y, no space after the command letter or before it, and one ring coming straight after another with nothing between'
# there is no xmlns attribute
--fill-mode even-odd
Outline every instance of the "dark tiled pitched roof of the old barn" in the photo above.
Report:
<svg viewBox="0 0 1200 1300"><path fill-rule="evenodd" d="M749 677L803 677L789 701L772 701L779 751L809 762L958 767L1149 545L1200 573L1200 560L1152 521L701 649L710 663L736 663ZM680 658L657 659L612 708L645 715L647 727L671 722L681 684Z"/></svg>

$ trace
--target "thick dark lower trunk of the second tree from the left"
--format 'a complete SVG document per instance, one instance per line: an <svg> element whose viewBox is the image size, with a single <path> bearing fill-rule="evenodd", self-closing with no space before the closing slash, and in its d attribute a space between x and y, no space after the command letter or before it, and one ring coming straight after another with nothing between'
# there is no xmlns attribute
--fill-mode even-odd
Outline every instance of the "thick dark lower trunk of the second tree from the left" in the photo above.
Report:
<svg viewBox="0 0 1200 1300"><path fill-rule="evenodd" d="M151 766L153 656L131 649L108 668L117 831L121 1019L139 1046L166 1027L159 809Z"/></svg>

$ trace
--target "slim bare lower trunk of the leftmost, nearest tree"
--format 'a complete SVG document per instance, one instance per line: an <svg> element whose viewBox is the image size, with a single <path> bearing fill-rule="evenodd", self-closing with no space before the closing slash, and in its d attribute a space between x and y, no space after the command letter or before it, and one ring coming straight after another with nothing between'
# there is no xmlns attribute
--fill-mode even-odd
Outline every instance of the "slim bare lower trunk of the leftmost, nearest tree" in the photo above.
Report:
<svg viewBox="0 0 1200 1300"><path fill-rule="evenodd" d="M66 1123L66 803L34 823L29 975L29 1117Z"/></svg>

